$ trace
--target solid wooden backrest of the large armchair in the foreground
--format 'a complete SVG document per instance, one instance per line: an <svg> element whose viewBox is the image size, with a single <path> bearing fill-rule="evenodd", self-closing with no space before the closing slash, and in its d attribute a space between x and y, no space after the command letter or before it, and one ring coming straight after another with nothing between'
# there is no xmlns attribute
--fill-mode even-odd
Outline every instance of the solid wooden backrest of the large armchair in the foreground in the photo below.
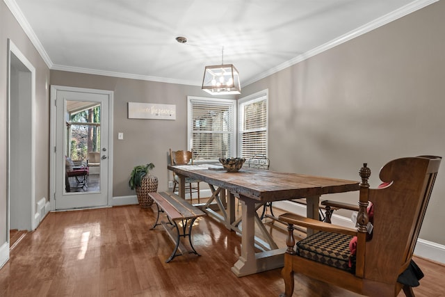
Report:
<svg viewBox="0 0 445 297"><path fill-rule="evenodd" d="M373 202L373 234L357 240L357 271L367 280L394 283L410 264L414 246L430 200L441 162L438 156L419 156L390 161L380 170L383 188L369 188L367 178L360 184L360 211ZM369 172L370 173L370 172ZM362 175L362 173L361 173ZM368 176L369 177L369 176ZM362 216L364 218L364 216ZM359 220L359 227L367 223Z"/></svg>

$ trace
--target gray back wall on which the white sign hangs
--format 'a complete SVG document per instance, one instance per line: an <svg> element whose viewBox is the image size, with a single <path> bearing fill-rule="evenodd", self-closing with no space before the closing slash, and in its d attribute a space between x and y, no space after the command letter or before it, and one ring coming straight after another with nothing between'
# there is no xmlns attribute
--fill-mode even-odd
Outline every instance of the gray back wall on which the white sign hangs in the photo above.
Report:
<svg viewBox="0 0 445 297"><path fill-rule="evenodd" d="M130 172L150 162L156 166L151 173L159 179L159 191L168 189L168 149L187 149L187 95L206 97L200 87L55 70L51 85L114 91L113 196L135 195L128 186ZM127 102L175 104L176 120L128 119ZM118 132L124 133L123 140Z"/></svg>

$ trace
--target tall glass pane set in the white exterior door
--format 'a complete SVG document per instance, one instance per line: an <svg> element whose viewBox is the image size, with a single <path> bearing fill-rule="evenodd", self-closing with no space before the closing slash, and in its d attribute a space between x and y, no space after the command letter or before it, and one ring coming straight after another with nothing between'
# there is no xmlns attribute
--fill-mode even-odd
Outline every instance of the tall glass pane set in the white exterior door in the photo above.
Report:
<svg viewBox="0 0 445 297"><path fill-rule="evenodd" d="M101 105L66 103L65 193L100 191Z"/></svg>

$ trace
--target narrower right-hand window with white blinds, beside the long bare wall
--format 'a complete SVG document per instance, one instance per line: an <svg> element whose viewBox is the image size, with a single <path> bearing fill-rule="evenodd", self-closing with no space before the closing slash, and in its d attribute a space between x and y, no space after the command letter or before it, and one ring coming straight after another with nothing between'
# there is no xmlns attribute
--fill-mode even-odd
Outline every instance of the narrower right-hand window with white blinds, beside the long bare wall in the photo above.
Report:
<svg viewBox="0 0 445 297"><path fill-rule="evenodd" d="M238 156L267 157L267 101L263 90L238 101Z"/></svg>

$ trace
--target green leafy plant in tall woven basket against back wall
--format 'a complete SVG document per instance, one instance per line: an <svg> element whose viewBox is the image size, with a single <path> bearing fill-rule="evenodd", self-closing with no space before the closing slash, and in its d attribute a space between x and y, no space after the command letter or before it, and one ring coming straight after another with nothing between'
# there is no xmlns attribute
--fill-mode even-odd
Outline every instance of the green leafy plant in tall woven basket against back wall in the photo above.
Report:
<svg viewBox="0 0 445 297"><path fill-rule="evenodd" d="M140 207L151 207L153 200L149 198L148 193L158 191L158 178L149 174L149 170L153 168L154 164L149 163L135 166L131 171L128 185L131 190L136 188Z"/></svg>

